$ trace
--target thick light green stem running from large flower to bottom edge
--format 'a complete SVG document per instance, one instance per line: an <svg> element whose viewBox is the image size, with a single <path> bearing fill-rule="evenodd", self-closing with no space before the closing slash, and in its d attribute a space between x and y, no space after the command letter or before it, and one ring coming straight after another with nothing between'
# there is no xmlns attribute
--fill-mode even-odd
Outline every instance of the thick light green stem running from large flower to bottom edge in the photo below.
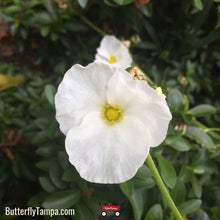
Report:
<svg viewBox="0 0 220 220"><path fill-rule="evenodd" d="M175 203L173 202L170 194L168 193L168 191L167 191L167 189L166 189L166 187L160 177L160 174L157 170L157 167L155 166L154 161L153 161L150 154L148 154L148 157L146 159L146 163L147 163L148 167L151 169L151 172L152 172L154 179L155 179L155 181L156 181L156 183L162 193L162 196L166 199L166 201L167 201L170 209L172 210L173 214L175 215L176 219L183 220L183 217L180 214L179 210L177 209Z"/></svg>

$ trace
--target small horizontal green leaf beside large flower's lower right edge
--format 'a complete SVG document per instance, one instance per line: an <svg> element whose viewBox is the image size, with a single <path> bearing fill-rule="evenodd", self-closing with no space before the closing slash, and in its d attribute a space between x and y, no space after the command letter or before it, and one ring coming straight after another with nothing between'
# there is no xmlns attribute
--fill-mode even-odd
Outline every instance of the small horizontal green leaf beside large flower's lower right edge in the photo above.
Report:
<svg viewBox="0 0 220 220"><path fill-rule="evenodd" d="M190 149L189 143L183 137L170 136L166 138L164 143L178 151L188 151Z"/></svg>

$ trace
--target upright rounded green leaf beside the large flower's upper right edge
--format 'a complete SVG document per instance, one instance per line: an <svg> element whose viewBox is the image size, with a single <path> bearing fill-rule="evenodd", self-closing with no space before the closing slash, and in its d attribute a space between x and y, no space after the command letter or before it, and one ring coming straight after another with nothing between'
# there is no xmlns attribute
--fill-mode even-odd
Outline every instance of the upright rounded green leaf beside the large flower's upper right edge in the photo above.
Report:
<svg viewBox="0 0 220 220"><path fill-rule="evenodd" d="M171 89L167 96L167 102L172 112L183 110L183 95L178 89Z"/></svg>

